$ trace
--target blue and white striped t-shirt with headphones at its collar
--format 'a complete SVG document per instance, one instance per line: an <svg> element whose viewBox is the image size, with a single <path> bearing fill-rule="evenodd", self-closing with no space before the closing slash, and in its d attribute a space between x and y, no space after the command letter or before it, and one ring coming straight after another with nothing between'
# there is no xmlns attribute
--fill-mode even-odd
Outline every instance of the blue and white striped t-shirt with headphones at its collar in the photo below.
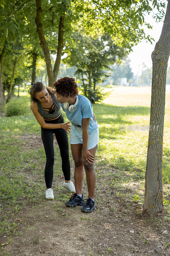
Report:
<svg viewBox="0 0 170 256"><path fill-rule="evenodd" d="M73 113L71 113L68 109L64 108L64 103L60 103L61 108L63 109L64 112L66 112L66 116L71 123L76 125L81 125L81 127L82 127L82 119L90 117L90 123L88 127L89 134L90 134L98 127L97 121L96 122L93 121L92 104L89 101L89 99L87 99L85 96L80 94L78 95L78 100L79 101L77 103L76 110Z"/></svg>

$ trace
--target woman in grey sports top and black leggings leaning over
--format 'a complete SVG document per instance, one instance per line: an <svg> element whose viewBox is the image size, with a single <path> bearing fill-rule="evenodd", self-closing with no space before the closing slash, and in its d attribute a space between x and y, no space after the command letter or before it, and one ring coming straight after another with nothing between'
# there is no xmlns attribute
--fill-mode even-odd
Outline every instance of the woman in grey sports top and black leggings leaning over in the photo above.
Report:
<svg viewBox="0 0 170 256"><path fill-rule="evenodd" d="M53 199L53 165L54 165L54 147L53 133L57 139L60 155L62 159L62 171L64 174L63 187L70 192L75 193L73 182L70 180L70 161L68 151L68 137L70 132L70 122L64 123L61 114L60 103L56 100L56 95L50 87L45 87L41 82L35 82L29 89L31 95L31 109L41 125L41 138L46 153L45 181L46 181L46 199Z"/></svg>

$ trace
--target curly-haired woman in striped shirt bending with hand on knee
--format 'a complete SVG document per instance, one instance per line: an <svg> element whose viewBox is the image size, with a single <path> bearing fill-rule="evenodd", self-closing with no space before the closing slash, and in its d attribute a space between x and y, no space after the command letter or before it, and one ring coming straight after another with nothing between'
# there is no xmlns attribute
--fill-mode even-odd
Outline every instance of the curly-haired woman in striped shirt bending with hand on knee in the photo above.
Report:
<svg viewBox="0 0 170 256"><path fill-rule="evenodd" d="M77 84L74 78L63 77L54 84L56 99L61 108L66 112L68 120L72 123L70 132L70 144L74 159L74 184L76 193L66 202L69 207L82 205L82 212L95 210L95 184L96 173L94 160L99 144L99 128L93 120L93 108L91 102L83 95L78 94ZM84 201L82 194L83 166L86 172L88 185L88 198Z"/></svg>

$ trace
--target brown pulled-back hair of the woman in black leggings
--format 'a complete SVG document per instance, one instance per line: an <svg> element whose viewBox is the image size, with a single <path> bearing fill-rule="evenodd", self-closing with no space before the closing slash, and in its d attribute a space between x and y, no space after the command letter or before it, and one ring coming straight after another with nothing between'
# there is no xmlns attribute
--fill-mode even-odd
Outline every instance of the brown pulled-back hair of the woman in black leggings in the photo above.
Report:
<svg viewBox="0 0 170 256"><path fill-rule="evenodd" d="M31 102L36 101L36 93L41 92L44 89L47 89L47 92L49 94L53 94L54 90L52 87L46 87L43 83L41 82L35 82L31 84L31 88L28 90L30 96L31 96Z"/></svg>

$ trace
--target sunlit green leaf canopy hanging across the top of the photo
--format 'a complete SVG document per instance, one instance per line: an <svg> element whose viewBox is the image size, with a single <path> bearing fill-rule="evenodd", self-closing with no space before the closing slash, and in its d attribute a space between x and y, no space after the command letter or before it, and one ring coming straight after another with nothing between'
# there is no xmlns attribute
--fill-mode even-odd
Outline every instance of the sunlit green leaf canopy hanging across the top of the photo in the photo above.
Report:
<svg viewBox="0 0 170 256"><path fill-rule="evenodd" d="M152 41L152 38L145 35L143 28L140 26L140 24L145 24L148 28L151 28L149 24L144 22L145 13L150 13L151 9L155 8L155 19L160 20L164 15L165 3L161 3L160 0L153 0L151 3L147 0L96 0L95 4L94 1L84 0L43 0L42 25L49 52L51 54L56 54L59 20L60 15L64 12L66 12L64 24L64 47L66 47L68 51L71 51L72 39L75 31L78 31L84 39L87 35L95 39L98 35L102 36L104 34L108 34L114 44L123 48L124 51L130 52L132 46L140 42L143 38ZM22 80L20 79L21 84L25 83L25 81L31 80L31 62L33 52L37 53L37 62L40 62L40 58L43 59L44 55L39 44L39 36L35 24L35 1L30 0L24 3L22 1L0 0L0 5L0 48L4 49L5 47L5 53L3 52L4 57L2 58L2 80L4 89L8 91L11 81L13 61L15 60L16 55L19 56L23 51L25 52L23 58L20 59L17 64L15 73L18 72L18 74L14 75L14 79L16 77L22 78ZM103 10L105 11L103 12ZM20 41L19 39L21 38L25 38L25 41L22 40L23 50L21 49L21 51L16 51L18 41ZM74 40L76 40L76 38L74 38ZM13 45L10 45L12 42ZM81 48L83 48L83 40L81 40L81 43ZM89 43L90 47L91 44L93 44L92 41L91 43L89 41L85 43L86 45ZM99 44L100 41L97 43ZM96 47L95 44L93 46L94 48ZM96 48L98 48L98 46ZM77 59L79 58L77 52L75 56ZM104 55L101 55L101 59L99 60L99 66L101 67L103 64L102 71L101 69L94 69L95 72L92 73L92 77L96 81L95 85L92 84L92 88L93 86L95 87L97 84L103 82L107 77L107 73L105 71L103 72L105 64L103 63L103 57ZM98 59L96 59L96 62L97 61ZM91 68L93 68L94 63L91 63ZM95 66L96 64L97 63L95 63ZM103 75L102 78L99 76L100 74ZM87 78L85 73L83 76L85 76L85 79ZM38 74L38 79L39 77L41 77L40 74ZM79 75L78 77L81 79ZM91 100L93 100L93 95L91 96Z"/></svg>

